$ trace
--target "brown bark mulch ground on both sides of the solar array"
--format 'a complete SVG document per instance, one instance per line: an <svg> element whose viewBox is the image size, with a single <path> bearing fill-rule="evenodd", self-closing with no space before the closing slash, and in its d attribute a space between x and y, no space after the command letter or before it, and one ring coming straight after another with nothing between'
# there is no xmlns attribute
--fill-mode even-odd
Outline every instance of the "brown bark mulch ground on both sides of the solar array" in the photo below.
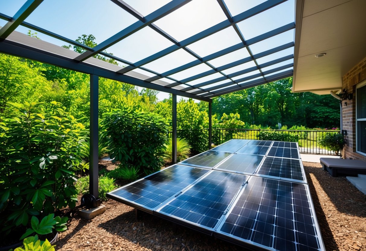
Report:
<svg viewBox="0 0 366 251"><path fill-rule="evenodd" d="M318 163L304 166L326 250L366 250L366 195ZM57 250L243 250L150 214L135 220L132 207L113 200L104 205L107 211L93 220L74 214L68 230L60 233Z"/></svg>

